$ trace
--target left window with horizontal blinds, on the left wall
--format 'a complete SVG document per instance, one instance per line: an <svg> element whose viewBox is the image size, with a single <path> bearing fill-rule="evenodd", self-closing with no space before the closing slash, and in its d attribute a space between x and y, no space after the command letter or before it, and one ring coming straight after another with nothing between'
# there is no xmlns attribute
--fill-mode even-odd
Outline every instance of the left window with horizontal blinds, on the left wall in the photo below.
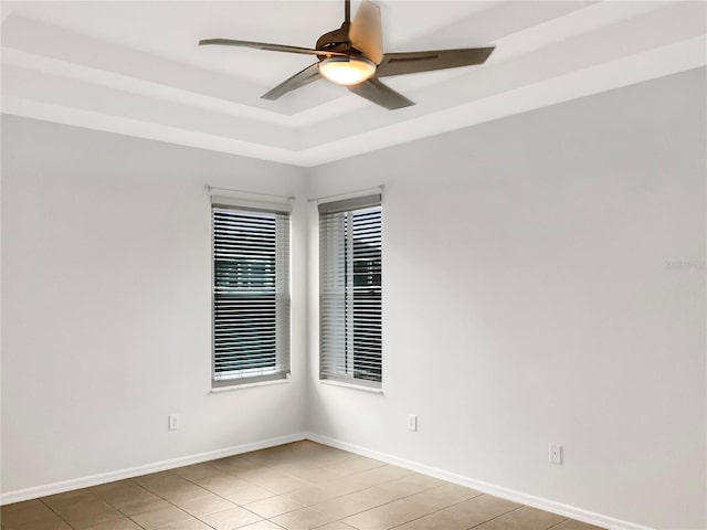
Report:
<svg viewBox="0 0 707 530"><path fill-rule="evenodd" d="M289 373L289 213L212 200L213 386ZM286 208L286 206L283 206Z"/></svg>

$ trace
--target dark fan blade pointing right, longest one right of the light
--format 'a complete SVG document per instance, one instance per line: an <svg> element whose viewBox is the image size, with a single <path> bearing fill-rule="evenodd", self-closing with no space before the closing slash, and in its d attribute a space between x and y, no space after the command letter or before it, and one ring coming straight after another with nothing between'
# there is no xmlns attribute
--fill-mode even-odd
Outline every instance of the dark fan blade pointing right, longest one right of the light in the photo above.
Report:
<svg viewBox="0 0 707 530"><path fill-rule="evenodd" d="M377 77L456 68L486 62L493 47L434 50L429 52L387 53L376 71Z"/></svg>

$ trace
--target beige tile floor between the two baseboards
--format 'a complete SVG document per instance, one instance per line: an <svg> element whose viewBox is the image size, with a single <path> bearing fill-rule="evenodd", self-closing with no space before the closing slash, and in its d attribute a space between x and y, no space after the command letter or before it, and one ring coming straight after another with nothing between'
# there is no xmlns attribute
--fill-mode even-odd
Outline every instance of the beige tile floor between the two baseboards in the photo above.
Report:
<svg viewBox="0 0 707 530"><path fill-rule="evenodd" d="M8 505L2 530L598 530L297 442Z"/></svg>

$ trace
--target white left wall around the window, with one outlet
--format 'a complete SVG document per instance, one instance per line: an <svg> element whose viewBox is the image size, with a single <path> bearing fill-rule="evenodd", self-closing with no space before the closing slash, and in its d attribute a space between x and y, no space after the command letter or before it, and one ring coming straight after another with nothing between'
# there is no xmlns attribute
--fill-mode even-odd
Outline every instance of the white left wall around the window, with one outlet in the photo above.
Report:
<svg viewBox="0 0 707 530"><path fill-rule="evenodd" d="M302 432L303 178L298 168L3 116L4 492ZM205 184L298 198L288 384L209 393Z"/></svg>

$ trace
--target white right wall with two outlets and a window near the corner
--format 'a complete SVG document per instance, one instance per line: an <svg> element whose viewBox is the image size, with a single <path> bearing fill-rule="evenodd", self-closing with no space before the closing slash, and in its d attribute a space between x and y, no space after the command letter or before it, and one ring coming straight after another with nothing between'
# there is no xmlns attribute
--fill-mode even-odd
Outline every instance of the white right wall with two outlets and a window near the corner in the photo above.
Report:
<svg viewBox="0 0 707 530"><path fill-rule="evenodd" d="M312 195L386 186L384 394L316 381L310 267L312 430L704 529L705 91L701 68L315 168ZM309 235L316 264L314 209Z"/></svg>

